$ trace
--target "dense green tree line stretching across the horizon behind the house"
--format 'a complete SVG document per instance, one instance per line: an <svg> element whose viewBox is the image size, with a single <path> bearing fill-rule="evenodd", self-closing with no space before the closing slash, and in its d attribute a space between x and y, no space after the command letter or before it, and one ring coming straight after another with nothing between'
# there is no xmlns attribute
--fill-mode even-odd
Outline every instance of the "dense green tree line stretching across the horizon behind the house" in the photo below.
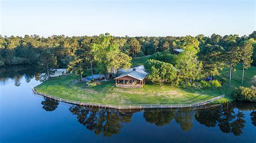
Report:
<svg viewBox="0 0 256 143"><path fill-rule="evenodd" d="M91 37L0 36L0 66L39 64L48 69L68 67L81 78L86 69L91 69L93 74L97 67L107 77L109 73L117 73L119 68L129 68L131 58L154 54L156 57L148 64L154 69L149 71L159 73L175 67L188 84L202 77L207 80L219 75L226 67L230 68L232 77L237 63L242 63L244 69L251 64L256 66L255 37L256 31L242 37L235 34L224 37L218 34L210 37L203 34L196 37L114 37L109 33ZM173 55L173 49L177 48L185 51ZM173 76L176 70L172 71L174 73L166 72L169 75L155 74L158 76L152 80L177 81Z"/></svg>

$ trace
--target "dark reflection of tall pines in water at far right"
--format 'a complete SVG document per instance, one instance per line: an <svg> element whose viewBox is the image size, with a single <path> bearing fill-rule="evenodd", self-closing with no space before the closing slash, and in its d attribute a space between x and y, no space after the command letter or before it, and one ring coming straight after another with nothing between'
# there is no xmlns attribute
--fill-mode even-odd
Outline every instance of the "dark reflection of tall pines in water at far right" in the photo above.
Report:
<svg viewBox="0 0 256 143"><path fill-rule="evenodd" d="M198 110L195 118L200 124L207 127L218 125L224 133L241 135L246 123L243 111L256 109L255 105L256 103L242 102L221 104L214 108Z"/></svg>

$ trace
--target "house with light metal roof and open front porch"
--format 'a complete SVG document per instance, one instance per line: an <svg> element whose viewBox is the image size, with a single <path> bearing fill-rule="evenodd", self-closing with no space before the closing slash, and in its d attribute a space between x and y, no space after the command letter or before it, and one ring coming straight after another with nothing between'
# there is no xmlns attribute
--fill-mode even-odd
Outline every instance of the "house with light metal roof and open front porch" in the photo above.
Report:
<svg viewBox="0 0 256 143"><path fill-rule="evenodd" d="M124 87L124 88L143 87L143 83L147 75L143 65L130 68L127 70L120 69L120 73L122 74L114 78L114 80L116 80L117 87Z"/></svg>

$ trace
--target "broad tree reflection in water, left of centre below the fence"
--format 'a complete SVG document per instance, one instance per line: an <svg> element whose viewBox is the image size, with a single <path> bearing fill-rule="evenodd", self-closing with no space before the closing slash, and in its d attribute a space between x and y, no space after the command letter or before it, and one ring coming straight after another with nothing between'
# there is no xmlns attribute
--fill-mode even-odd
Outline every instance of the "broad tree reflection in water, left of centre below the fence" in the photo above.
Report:
<svg viewBox="0 0 256 143"><path fill-rule="evenodd" d="M78 122L96 134L103 133L104 137L119 134L122 123L131 122L132 113L118 112L118 110L103 110L71 106L70 112L77 116Z"/></svg>

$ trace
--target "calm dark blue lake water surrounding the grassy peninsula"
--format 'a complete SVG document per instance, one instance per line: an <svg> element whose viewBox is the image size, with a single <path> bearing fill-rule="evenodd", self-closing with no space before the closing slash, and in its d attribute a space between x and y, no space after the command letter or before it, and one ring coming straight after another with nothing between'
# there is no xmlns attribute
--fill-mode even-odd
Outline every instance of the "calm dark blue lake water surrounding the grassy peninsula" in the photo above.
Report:
<svg viewBox="0 0 256 143"><path fill-rule="evenodd" d="M256 103L119 112L32 94L39 70L0 68L0 142L256 142Z"/></svg>

